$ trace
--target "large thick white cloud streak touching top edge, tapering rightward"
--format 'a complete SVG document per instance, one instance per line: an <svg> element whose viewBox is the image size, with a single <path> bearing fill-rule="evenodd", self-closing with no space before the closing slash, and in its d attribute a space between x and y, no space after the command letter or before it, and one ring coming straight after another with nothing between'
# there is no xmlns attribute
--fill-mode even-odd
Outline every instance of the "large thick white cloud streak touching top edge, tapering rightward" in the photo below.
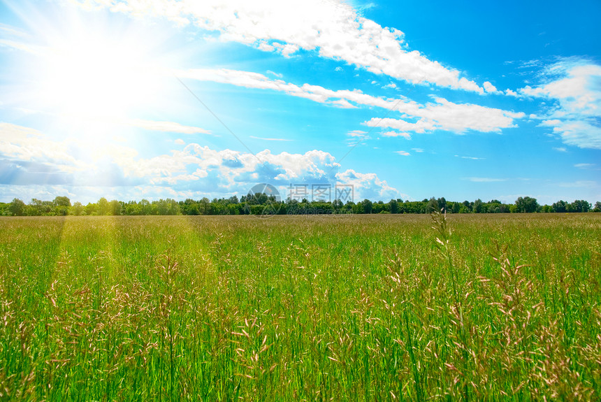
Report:
<svg viewBox="0 0 601 402"><path fill-rule="evenodd" d="M191 22L217 31L224 41L252 45L284 57L298 50L343 60L375 74L407 82L430 82L441 87L484 93L460 71L408 50L404 34L361 17L352 6L335 0L80 0L136 17L166 17L178 24Z"/></svg>

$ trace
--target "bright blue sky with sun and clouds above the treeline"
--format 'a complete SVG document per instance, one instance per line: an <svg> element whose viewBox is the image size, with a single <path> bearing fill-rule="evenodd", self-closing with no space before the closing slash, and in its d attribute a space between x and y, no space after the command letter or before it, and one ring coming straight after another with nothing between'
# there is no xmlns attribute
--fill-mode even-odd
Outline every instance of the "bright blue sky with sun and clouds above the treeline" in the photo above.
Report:
<svg viewBox="0 0 601 402"><path fill-rule="evenodd" d="M0 201L601 200L599 1L0 0Z"/></svg>

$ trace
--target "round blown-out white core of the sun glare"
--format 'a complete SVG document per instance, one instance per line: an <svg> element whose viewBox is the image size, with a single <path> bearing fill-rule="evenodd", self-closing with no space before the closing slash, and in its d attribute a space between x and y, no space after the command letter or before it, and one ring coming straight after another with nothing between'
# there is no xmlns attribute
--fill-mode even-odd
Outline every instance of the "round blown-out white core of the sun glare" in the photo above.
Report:
<svg viewBox="0 0 601 402"><path fill-rule="evenodd" d="M108 29L60 36L43 55L41 101L68 119L119 120L156 94L161 66L138 36L115 37Z"/></svg>

